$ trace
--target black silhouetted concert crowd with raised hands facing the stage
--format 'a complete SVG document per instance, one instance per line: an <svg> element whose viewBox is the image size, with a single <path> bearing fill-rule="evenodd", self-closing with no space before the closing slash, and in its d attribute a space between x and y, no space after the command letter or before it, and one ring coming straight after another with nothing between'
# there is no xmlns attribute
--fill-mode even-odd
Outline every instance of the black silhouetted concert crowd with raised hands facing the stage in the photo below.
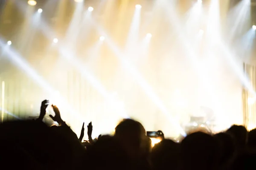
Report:
<svg viewBox="0 0 256 170"><path fill-rule="evenodd" d="M152 147L140 122L124 119L114 135L92 139L92 122L78 137L61 119L57 106L44 122L48 100L36 120L0 124L2 169L24 170L251 170L256 169L256 129L233 125L221 133L193 130L180 142L164 139Z"/></svg>

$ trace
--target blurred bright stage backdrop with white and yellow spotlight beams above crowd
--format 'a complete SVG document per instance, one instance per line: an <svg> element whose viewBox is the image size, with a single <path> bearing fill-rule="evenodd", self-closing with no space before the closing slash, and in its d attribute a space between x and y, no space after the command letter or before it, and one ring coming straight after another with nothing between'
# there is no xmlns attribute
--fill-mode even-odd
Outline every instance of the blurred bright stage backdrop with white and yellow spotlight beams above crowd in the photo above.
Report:
<svg viewBox="0 0 256 170"><path fill-rule="evenodd" d="M77 134L255 127L255 25L256 0L0 0L1 121L49 99Z"/></svg>

